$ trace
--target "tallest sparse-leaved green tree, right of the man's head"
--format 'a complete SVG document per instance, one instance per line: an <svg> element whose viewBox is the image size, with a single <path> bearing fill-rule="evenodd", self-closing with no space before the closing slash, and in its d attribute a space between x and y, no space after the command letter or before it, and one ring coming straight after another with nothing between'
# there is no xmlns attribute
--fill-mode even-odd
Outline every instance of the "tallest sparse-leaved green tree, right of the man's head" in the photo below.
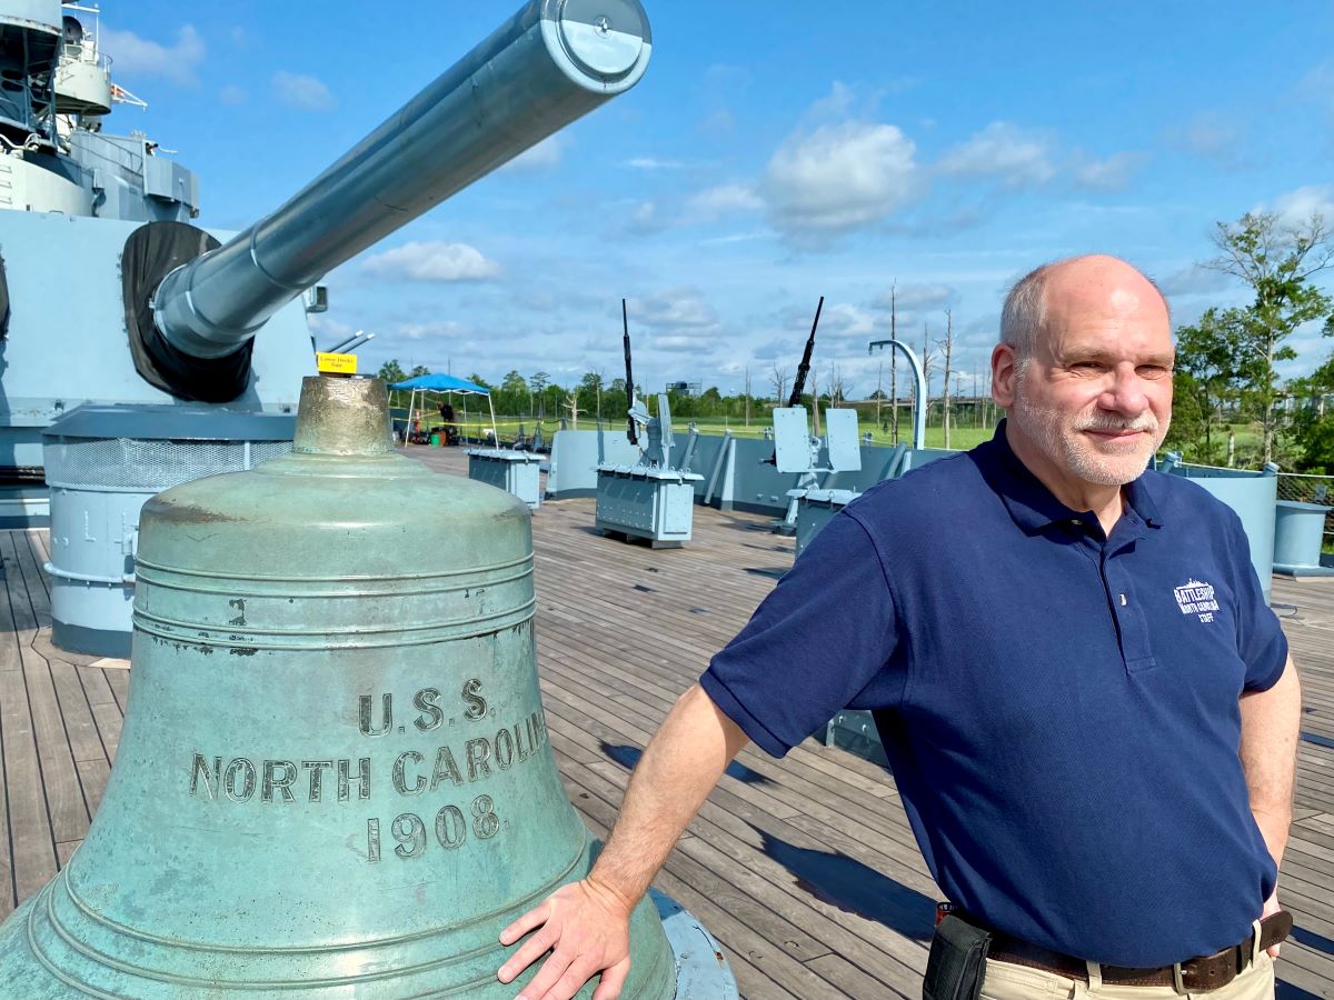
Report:
<svg viewBox="0 0 1334 1000"><path fill-rule="evenodd" d="M1334 233L1315 213L1301 224L1290 224L1274 212L1247 212L1229 225L1218 223L1214 245L1219 256L1206 267L1245 281L1254 301L1229 309L1225 331L1233 339L1239 372L1249 383L1247 397L1254 403L1261 424L1261 460L1274 457L1279 396L1275 364L1297 357L1285 344L1293 332L1311 320L1334 316L1334 299L1310 284L1313 275L1334 264Z"/></svg>

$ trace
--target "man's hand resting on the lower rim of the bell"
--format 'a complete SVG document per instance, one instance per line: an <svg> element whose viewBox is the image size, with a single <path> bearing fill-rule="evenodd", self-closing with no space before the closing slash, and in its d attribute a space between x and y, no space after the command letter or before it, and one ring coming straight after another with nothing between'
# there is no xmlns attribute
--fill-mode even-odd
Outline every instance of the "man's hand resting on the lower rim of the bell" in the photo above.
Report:
<svg viewBox="0 0 1334 1000"><path fill-rule="evenodd" d="M630 973L632 911L634 903L591 877L563 885L500 932L500 944L514 944L540 928L500 967L500 981L511 983L550 951L516 1000L570 1000L599 972L592 1000L616 1000Z"/></svg>

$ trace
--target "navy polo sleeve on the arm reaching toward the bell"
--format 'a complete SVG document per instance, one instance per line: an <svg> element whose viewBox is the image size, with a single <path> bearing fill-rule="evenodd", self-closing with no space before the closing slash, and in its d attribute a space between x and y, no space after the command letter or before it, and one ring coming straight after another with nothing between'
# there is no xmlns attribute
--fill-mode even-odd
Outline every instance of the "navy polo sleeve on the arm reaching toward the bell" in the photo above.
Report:
<svg viewBox="0 0 1334 1000"><path fill-rule="evenodd" d="M714 656L700 685L755 744L780 757L866 688L895 644L879 555L866 528L843 512Z"/></svg>

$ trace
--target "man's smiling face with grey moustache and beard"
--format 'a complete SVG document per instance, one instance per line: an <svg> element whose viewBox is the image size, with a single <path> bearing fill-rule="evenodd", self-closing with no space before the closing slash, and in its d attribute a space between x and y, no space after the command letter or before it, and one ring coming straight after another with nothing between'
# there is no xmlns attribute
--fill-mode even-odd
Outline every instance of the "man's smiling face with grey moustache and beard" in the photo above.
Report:
<svg viewBox="0 0 1334 1000"><path fill-rule="evenodd" d="M1011 424L1077 493L1130 483L1167 433L1173 355L1167 312L1142 279L1074 291L1054 280L1034 356L1014 375Z"/></svg>

